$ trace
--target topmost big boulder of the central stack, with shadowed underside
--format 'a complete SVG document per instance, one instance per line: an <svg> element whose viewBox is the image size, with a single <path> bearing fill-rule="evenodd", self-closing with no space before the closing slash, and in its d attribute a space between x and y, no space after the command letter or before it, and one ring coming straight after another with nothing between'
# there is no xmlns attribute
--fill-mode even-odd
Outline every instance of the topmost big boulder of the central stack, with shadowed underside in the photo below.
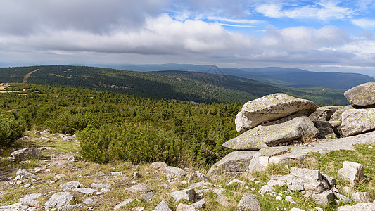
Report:
<svg viewBox="0 0 375 211"><path fill-rule="evenodd" d="M259 124L286 117L294 113L310 115L318 108L314 102L277 93L248 101L242 107L242 114L236 116L238 132L257 127Z"/></svg>

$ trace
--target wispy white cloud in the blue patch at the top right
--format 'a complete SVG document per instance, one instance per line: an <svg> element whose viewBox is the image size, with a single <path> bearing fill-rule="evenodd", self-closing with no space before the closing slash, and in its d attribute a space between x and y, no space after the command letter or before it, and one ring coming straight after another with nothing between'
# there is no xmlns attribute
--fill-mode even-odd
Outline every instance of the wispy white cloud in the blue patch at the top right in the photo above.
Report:
<svg viewBox="0 0 375 211"><path fill-rule="evenodd" d="M270 18L293 18L293 19L317 19L331 20L350 18L354 13L352 9L339 6L336 1L320 1L317 4L305 6L293 5L292 8L286 3L261 4L256 6L258 13Z"/></svg>

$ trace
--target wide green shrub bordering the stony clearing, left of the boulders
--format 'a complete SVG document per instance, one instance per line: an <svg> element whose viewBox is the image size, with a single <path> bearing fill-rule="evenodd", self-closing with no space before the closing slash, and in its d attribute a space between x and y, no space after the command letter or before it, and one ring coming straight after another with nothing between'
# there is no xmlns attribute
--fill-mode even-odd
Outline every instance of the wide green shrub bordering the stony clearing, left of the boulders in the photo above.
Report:
<svg viewBox="0 0 375 211"><path fill-rule="evenodd" d="M127 160L172 165L182 158L184 146L173 132L154 129L151 124L107 124L97 129L88 126L77 137L82 157L99 163Z"/></svg>

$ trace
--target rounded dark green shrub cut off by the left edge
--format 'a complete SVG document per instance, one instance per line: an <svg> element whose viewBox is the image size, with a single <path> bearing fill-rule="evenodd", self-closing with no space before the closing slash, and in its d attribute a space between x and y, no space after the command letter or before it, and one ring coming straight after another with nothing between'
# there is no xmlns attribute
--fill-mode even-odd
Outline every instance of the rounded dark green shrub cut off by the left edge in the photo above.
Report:
<svg viewBox="0 0 375 211"><path fill-rule="evenodd" d="M0 111L0 144L10 146L25 132L25 122L12 113Z"/></svg>

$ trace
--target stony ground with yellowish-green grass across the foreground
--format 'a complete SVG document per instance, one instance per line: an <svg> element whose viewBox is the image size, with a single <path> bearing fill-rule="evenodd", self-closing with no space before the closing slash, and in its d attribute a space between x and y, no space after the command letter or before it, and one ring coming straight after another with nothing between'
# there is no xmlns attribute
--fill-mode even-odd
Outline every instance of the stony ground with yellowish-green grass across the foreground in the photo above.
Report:
<svg viewBox="0 0 375 211"><path fill-rule="evenodd" d="M367 133L366 137L369 135L375 136L375 132ZM333 146L337 150L355 143L342 140L329 140L336 144L331 142L324 148ZM374 139L352 140L374 142L371 141ZM345 144L337 144L340 141ZM290 147L316 149L315 145L323 142ZM145 165L86 162L77 154L79 142L74 136L28 132L19 143L23 143L22 148L42 150L42 156L21 161L1 158L1 170L5 171L1 171L0 210L336 210L345 204L357 207L347 205L338 209L375 209L374 198L356 186L360 180L352 179L352 186L336 185L334 178L326 179L331 177L322 176L319 170L286 169L281 165L285 168L284 176L243 172L208 178L203 174L205 170L193 167L182 170L167 167L163 162ZM371 150L374 143L366 147ZM13 150L1 154L11 155ZM20 154L13 153L13 157L17 156ZM363 167L362 173L355 174L362 175ZM366 175L362 179L371 180Z"/></svg>

